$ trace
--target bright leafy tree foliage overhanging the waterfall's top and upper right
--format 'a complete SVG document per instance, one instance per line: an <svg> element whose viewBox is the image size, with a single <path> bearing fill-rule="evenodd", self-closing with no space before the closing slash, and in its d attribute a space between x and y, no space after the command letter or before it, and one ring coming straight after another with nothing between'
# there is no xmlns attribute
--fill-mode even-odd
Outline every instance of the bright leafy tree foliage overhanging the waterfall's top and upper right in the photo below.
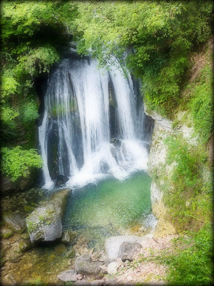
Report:
<svg viewBox="0 0 214 286"><path fill-rule="evenodd" d="M209 1L79 3L74 36L78 52L101 64L111 65L111 54L121 59L126 49L134 52L126 62L142 79L147 105L170 116L191 47L211 35L211 13Z"/></svg>

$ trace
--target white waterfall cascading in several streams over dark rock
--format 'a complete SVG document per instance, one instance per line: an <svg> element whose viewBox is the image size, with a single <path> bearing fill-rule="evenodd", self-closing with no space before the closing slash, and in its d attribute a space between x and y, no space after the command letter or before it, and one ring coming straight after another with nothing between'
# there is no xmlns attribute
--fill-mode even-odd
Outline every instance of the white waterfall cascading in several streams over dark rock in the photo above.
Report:
<svg viewBox="0 0 214 286"><path fill-rule="evenodd" d="M94 59L67 58L50 75L39 127L44 188L58 175L71 187L147 169L143 103L113 60L107 71Z"/></svg>

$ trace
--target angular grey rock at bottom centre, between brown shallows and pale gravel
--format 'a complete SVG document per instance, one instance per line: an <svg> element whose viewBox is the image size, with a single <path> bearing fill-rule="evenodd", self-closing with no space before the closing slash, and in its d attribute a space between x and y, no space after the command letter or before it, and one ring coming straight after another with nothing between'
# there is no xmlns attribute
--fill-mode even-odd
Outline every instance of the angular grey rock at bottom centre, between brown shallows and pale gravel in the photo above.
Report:
<svg viewBox="0 0 214 286"><path fill-rule="evenodd" d="M76 259L75 270L83 275L101 279L107 273L106 270L100 267L102 265L103 263L92 261L91 256L88 253L84 253Z"/></svg>

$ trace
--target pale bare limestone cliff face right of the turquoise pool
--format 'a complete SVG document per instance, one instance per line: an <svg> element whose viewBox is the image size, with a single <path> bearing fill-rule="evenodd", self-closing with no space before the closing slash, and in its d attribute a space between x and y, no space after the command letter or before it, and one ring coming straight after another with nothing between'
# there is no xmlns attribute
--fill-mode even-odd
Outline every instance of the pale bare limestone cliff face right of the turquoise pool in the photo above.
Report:
<svg viewBox="0 0 214 286"><path fill-rule="evenodd" d="M164 144L165 138L170 135L173 135L177 132L182 133L183 137L190 141L191 144L196 143L196 139L192 136L193 128L189 128L185 125L173 128L173 121L168 120L167 118L162 117L161 115L150 112L148 113L146 106L144 106L145 113L152 117L154 120L154 129L152 134L152 142L149 152L148 159L148 173L152 177L152 171L154 169L160 168L161 165L166 164L167 157L167 147ZM179 114L178 114L179 116ZM166 165L166 172L168 176L171 175L174 164ZM159 184L164 184L160 181ZM167 207L163 202L163 191L156 184L154 178L152 177L151 183L151 203L152 203L152 212L158 219L157 227L154 232L155 236L163 236L167 233L175 233L176 230L169 220L167 220Z"/></svg>

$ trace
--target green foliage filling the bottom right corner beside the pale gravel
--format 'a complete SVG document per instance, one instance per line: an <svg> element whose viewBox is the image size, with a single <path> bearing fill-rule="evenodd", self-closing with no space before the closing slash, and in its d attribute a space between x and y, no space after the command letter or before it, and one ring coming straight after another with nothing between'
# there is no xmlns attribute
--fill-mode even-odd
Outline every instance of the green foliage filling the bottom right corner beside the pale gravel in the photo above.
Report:
<svg viewBox="0 0 214 286"><path fill-rule="evenodd" d="M188 232L174 241L173 253L157 257L169 267L167 280L173 285L208 285L212 279L212 228L205 225L196 233Z"/></svg>

